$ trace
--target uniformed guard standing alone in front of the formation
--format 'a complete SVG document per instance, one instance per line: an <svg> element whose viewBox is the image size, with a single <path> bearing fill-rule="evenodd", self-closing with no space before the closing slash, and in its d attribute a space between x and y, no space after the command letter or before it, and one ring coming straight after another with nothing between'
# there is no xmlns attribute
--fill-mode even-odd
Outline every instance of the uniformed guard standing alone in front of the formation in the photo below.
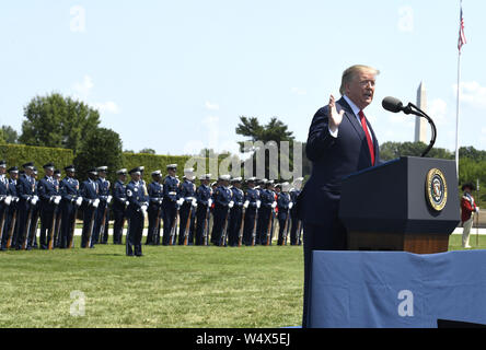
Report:
<svg viewBox="0 0 486 350"><path fill-rule="evenodd" d="M129 229L126 238L126 255L142 256L141 238L143 225L149 209L149 197L146 196L143 185L140 182L141 172L139 168L132 168L129 172L131 182L126 188L128 199L127 217L129 218Z"/></svg>

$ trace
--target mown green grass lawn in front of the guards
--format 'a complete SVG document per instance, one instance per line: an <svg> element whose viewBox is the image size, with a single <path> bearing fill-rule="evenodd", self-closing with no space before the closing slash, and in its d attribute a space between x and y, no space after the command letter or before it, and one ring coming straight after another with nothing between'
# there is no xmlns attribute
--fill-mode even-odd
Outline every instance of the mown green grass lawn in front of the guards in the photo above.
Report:
<svg viewBox="0 0 486 350"><path fill-rule="evenodd" d="M0 254L0 327L300 325L302 247L143 246L137 258L124 245L81 249L77 240L72 250ZM452 235L458 249L461 235ZM82 304L77 292L84 316L71 314Z"/></svg>

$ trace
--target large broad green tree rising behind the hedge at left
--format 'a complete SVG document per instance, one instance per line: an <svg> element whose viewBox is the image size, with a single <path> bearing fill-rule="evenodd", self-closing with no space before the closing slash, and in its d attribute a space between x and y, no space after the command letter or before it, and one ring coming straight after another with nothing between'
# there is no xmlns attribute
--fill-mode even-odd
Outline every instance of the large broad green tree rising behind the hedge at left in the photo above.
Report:
<svg viewBox="0 0 486 350"><path fill-rule="evenodd" d="M58 93L34 97L24 117L21 143L71 149L74 154L100 125L97 110Z"/></svg>

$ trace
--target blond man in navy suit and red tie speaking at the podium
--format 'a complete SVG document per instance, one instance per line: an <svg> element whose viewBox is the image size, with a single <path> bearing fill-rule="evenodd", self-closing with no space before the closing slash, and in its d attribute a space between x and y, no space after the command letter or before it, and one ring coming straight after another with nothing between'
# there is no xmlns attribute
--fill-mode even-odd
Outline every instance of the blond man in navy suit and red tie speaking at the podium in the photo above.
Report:
<svg viewBox="0 0 486 350"><path fill-rule="evenodd" d="M343 73L343 97L315 114L306 143L312 174L298 200L304 224L304 304L302 327L308 325L312 250L342 250L347 232L338 219L343 178L379 163L379 144L363 109L371 104L379 71L352 66Z"/></svg>

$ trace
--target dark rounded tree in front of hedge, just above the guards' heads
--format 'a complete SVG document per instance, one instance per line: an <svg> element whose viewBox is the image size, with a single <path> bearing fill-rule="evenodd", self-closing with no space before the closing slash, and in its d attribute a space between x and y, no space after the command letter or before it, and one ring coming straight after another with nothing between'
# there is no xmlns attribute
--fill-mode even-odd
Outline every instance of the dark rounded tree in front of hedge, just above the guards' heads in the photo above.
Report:
<svg viewBox="0 0 486 350"><path fill-rule="evenodd" d="M123 144L119 135L111 129L99 128L91 132L74 158L74 166L80 179L86 178L92 167L107 166L108 178L116 179L116 171L123 164Z"/></svg>

